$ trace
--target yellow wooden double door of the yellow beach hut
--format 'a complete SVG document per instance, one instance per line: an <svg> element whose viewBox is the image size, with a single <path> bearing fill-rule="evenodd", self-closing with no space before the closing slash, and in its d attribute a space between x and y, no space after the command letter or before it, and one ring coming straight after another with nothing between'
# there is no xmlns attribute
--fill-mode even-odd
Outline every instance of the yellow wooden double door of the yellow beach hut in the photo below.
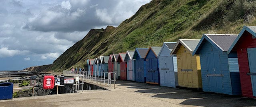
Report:
<svg viewBox="0 0 256 107"><path fill-rule="evenodd" d="M182 53L181 61L182 61L181 71L183 74L183 85L192 86L193 78L192 78L191 54Z"/></svg>

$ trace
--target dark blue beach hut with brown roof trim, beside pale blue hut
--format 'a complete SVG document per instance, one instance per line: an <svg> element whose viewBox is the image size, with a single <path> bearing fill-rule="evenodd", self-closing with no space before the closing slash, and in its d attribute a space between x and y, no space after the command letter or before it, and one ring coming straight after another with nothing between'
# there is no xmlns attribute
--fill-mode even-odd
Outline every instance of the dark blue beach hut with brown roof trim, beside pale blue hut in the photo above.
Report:
<svg viewBox="0 0 256 107"><path fill-rule="evenodd" d="M149 47L146 55L146 83L160 85L158 54L162 47Z"/></svg>

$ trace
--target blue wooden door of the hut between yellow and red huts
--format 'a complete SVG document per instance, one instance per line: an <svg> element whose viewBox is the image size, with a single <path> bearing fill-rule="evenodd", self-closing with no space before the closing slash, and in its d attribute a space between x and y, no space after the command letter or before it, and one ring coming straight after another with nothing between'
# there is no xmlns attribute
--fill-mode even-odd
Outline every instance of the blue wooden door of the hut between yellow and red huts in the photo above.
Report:
<svg viewBox="0 0 256 107"><path fill-rule="evenodd" d="M222 91L223 90L223 80L222 72L220 70L220 56L219 53L207 53L207 66L208 66L208 81L210 91Z"/></svg>

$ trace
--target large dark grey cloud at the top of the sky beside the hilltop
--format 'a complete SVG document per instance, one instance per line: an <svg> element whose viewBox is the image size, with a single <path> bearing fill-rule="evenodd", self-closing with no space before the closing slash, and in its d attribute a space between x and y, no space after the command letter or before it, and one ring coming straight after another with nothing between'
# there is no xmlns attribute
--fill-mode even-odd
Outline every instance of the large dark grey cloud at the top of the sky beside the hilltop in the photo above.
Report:
<svg viewBox="0 0 256 107"><path fill-rule="evenodd" d="M139 1L84 0L78 3L71 0L70 9L60 4L41 12L33 21L26 23L22 29L31 31L89 31L97 26L117 26L124 19L131 17L140 8ZM149 0L143 1L147 3ZM130 6L126 6L130 5Z"/></svg>

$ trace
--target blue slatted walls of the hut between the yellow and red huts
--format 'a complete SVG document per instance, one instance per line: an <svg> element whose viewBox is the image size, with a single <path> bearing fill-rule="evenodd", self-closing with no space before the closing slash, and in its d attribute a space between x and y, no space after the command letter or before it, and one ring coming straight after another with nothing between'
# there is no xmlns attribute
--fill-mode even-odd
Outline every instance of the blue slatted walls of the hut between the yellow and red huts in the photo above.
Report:
<svg viewBox="0 0 256 107"><path fill-rule="evenodd" d="M238 66L234 66L238 61L236 58L230 58L230 61L228 61L226 51L220 53L211 43L205 42L199 52L203 91L240 95L239 71L230 72L231 66L229 66L233 65L234 68L238 68ZM230 54L229 56L236 57L236 54ZM212 71L211 66L215 71ZM223 74L224 76L207 76L207 74Z"/></svg>

